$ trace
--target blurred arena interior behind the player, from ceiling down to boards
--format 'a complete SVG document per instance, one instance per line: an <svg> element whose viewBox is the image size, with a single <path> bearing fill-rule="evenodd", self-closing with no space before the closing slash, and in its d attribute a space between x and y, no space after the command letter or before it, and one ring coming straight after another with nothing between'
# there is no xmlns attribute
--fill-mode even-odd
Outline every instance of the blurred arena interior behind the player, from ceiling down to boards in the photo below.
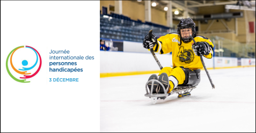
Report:
<svg viewBox="0 0 256 133"><path fill-rule="evenodd" d="M150 54L142 46L144 36L150 29L157 38L177 33L179 20L189 17L196 24L196 34L206 36L215 45L216 60L209 61L208 68L238 67L245 63L255 65L255 1L100 1L101 77L113 72L158 70L157 64L141 61L144 55L136 55ZM158 56L162 58L162 55ZM134 68L136 60L126 64L129 57L140 58L139 66L154 67ZM226 61L225 57L230 60ZM170 58L163 56L169 67L172 65ZM153 59L149 62L155 63ZM229 65L231 62L236 63Z"/></svg>

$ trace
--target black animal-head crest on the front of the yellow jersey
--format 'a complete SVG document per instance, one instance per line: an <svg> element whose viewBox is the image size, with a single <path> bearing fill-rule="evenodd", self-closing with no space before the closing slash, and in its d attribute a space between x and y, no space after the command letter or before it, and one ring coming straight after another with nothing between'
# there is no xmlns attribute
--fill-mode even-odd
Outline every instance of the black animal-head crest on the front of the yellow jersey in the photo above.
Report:
<svg viewBox="0 0 256 133"><path fill-rule="evenodd" d="M179 57L180 62L189 64L193 62L195 56L192 49L184 49L184 46L180 46L177 57Z"/></svg>

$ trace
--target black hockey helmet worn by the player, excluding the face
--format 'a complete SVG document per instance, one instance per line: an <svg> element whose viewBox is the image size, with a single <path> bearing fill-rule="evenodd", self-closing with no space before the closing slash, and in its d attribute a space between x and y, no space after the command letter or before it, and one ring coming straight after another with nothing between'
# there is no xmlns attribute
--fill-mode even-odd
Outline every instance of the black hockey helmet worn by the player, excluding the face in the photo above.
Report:
<svg viewBox="0 0 256 133"><path fill-rule="evenodd" d="M195 34L195 23L194 23L194 21L191 18L185 18L185 19L182 18L180 20L179 24L178 24L178 28L177 28L178 35L180 36L180 39L183 42L187 43L187 42L192 41L192 38L190 36L184 36L182 38L180 29L184 29L184 28L191 28L192 33L189 33L189 34L192 34L193 38L195 38L196 34Z"/></svg>

